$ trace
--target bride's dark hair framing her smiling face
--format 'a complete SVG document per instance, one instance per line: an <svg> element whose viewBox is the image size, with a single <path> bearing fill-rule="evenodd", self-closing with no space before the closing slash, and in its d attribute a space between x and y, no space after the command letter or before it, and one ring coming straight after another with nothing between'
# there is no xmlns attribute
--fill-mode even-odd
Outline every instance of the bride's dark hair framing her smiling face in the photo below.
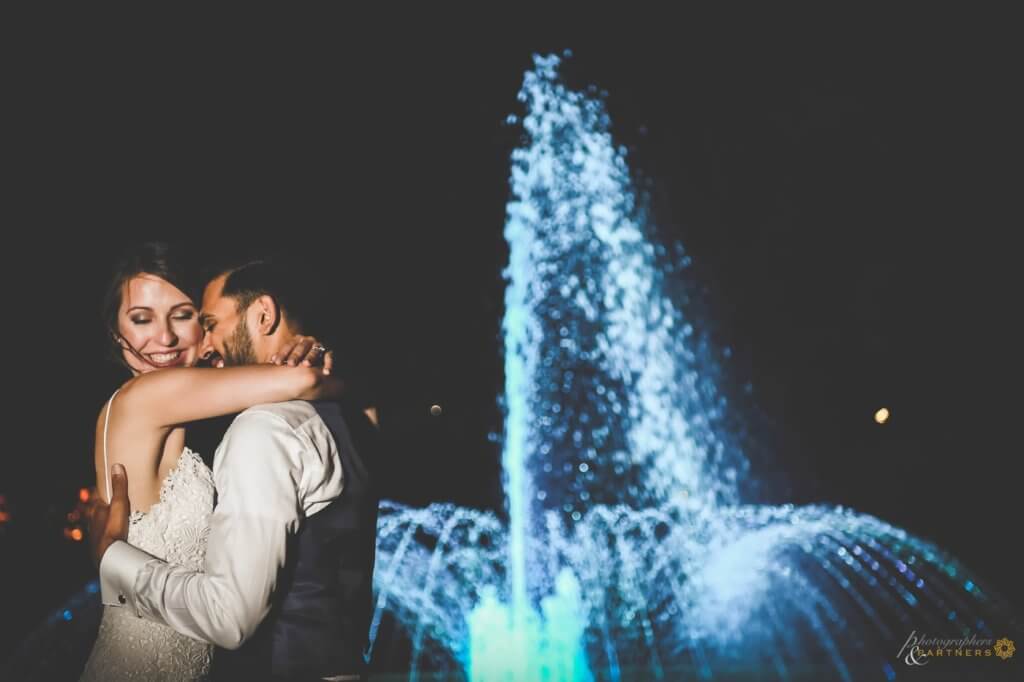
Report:
<svg viewBox="0 0 1024 682"><path fill-rule="evenodd" d="M166 242L145 242L126 248L114 265L113 275L103 293L100 314L104 333L111 342L110 359L129 371L131 367L125 360L124 350L142 361L145 359L121 336L118 312L125 285L140 274L152 274L174 285L197 305L200 300L198 268L180 247Z"/></svg>

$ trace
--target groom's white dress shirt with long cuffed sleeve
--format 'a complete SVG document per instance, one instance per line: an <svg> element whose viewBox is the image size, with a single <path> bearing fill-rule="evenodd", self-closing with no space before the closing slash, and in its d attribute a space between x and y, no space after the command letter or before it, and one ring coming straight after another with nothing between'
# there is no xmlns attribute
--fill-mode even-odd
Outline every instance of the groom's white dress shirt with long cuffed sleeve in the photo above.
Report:
<svg viewBox="0 0 1024 682"><path fill-rule="evenodd" d="M288 536L341 494L338 443L308 402L250 408L217 447L213 479L205 572L119 541L100 560L100 591L108 606L232 649L270 610Z"/></svg>

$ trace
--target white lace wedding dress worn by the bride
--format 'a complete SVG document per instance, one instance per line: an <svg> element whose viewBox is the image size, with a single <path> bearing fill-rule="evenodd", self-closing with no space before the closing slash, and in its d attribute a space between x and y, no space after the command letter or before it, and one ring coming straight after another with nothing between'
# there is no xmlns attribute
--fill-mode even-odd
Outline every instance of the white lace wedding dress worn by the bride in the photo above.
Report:
<svg viewBox="0 0 1024 682"><path fill-rule="evenodd" d="M185 447L160 486L160 502L132 512L128 542L170 563L202 570L213 511L213 474ZM103 608L82 680L205 680L213 646L127 608Z"/></svg>

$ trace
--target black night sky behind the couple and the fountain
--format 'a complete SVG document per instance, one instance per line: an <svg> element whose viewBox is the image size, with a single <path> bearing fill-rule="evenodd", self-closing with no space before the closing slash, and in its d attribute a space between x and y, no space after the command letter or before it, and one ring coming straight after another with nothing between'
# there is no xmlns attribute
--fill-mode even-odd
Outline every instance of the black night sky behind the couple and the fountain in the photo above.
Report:
<svg viewBox="0 0 1024 682"><path fill-rule="evenodd" d="M1024 604L1008 17L398 18L66 17L19 41L0 657L90 576L62 519L117 382L97 310L128 240L301 254L375 378L392 497L501 507L505 118L531 52L565 47L570 83L608 92L659 233L693 257L748 446L792 482L770 499L878 515Z"/></svg>

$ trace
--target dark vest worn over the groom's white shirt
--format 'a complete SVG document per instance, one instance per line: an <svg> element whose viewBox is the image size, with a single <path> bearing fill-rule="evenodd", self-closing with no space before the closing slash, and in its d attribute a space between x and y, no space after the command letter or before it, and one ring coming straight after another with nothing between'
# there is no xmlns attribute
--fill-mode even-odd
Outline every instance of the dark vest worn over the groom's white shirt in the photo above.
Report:
<svg viewBox="0 0 1024 682"><path fill-rule="evenodd" d="M274 605L239 649L217 649L216 680L314 680L366 673L373 613L379 437L355 409L311 403L338 444L341 495L290 539Z"/></svg>

